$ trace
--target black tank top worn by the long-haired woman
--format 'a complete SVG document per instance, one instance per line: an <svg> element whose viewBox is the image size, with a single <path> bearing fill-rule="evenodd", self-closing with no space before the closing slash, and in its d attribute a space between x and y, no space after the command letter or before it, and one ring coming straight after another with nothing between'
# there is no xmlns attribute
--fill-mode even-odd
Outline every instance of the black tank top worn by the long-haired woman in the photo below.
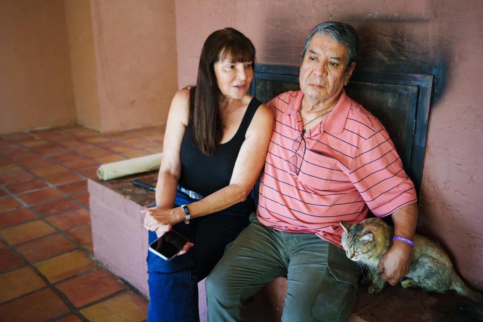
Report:
<svg viewBox="0 0 483 322"><path fill-rule="evenodd" d="M191 98L190 98L191 99ZM202 196L229 185L241 144L245 141L253 116L262 103L253 98L235 135L226 143L218 144L214 155L206 155L194 144L191 126L188 126L181 143L181 177L179 185ZM252 196L227 210L250 213L255 210Z"/></svg>

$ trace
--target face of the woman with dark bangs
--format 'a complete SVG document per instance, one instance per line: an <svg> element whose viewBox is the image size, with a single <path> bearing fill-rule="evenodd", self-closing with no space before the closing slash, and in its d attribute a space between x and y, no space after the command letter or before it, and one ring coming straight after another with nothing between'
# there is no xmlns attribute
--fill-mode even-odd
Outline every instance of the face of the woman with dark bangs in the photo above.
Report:
<svg viewBox="0 0 483 322"><path fill-rule="evenodd" d="M229 60L215 62L213 68L222 95L240 100L247 94L253 78L252 63L253 61L235 63Z"/></svg>

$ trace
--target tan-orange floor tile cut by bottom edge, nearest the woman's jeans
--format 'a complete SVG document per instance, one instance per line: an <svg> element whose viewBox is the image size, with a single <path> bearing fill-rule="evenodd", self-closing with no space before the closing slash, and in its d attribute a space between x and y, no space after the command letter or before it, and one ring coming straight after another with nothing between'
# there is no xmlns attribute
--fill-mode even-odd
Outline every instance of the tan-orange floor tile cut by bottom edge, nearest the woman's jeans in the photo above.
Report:
<svg viewBox="0 0 483 322"><path fill-rule="evenodd" d="M147 301L130 291L86 307L81 313L92 322L137 322L146 319Z"/></svg>

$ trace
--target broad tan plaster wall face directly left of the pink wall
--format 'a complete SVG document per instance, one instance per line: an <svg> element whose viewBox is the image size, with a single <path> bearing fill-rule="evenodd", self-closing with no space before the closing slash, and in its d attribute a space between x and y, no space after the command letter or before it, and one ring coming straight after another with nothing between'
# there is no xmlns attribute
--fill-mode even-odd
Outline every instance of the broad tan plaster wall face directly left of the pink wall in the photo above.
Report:
<svg viewBox="0 0 483 322"><path fill-rule="evenodd" d="M178 90L174 0L91 0L102 132L166 124Z"/></svg>

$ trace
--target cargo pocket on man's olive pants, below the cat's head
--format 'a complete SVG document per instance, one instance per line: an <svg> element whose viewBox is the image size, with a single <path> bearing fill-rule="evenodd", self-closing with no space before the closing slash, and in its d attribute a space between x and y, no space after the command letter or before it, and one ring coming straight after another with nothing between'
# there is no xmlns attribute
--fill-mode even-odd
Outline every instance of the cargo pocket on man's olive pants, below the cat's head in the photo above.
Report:
<svg viewBox="0 0 483 322"><path fill-rule="evenodd" d="M331 265L309 307L314 322L347 321L357 299L358 274L350 269Z"/></svg>

